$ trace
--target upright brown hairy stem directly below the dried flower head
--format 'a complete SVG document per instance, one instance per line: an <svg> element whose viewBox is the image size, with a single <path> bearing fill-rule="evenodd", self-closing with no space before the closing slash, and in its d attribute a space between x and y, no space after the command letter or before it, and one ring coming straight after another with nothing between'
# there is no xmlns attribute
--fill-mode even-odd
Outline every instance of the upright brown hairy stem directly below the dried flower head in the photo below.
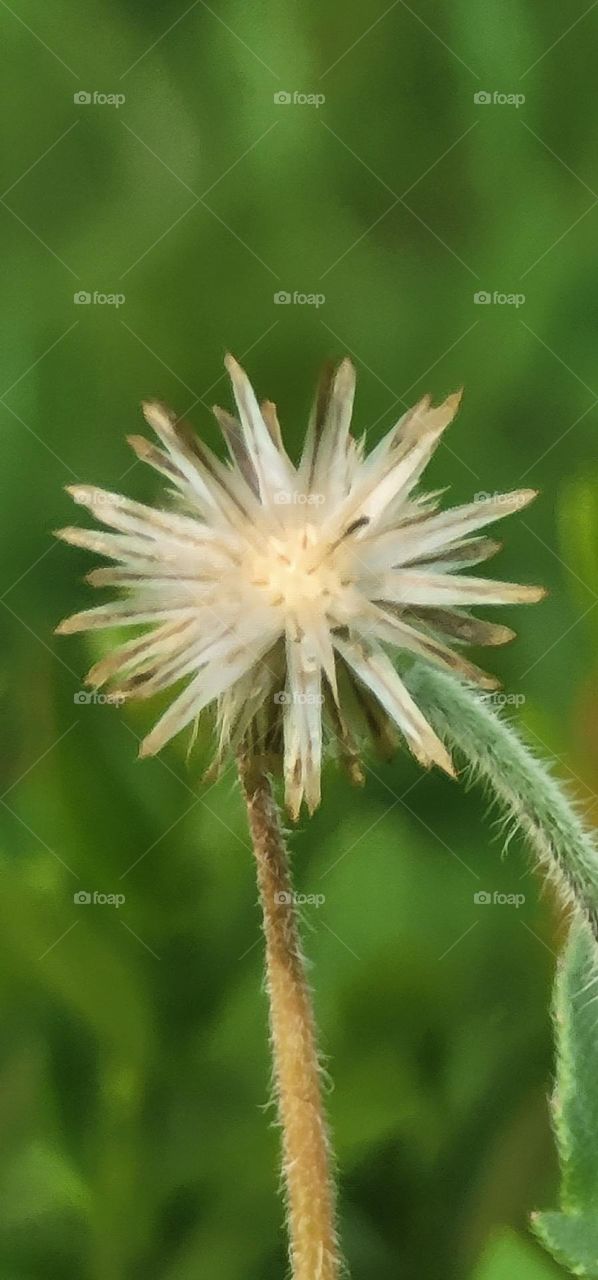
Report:
<svg viewBox="0 0 598 1280"><path fill-rule="evenodd" d="M264 915L292 1275L293 1280L338 1280L342 1263L330 1147L288 855L268 778L248 756L239 758L238 765Z"/></svg>

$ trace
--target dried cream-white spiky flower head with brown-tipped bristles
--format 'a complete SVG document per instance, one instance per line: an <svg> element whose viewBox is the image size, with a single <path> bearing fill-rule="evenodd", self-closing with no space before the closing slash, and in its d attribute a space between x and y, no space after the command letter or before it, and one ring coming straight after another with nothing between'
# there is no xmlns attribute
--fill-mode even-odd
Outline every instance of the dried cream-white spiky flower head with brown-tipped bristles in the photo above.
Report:
<svg viewBox="0 0 598 1280"><path fill-rule="evenodd" d="M187 678L141 754L159 751L215 703L218 759L239 748L283 759L293 817L303 797L310 812L319 803L324 732L359 776L350 724L368 728L379 745L398 730L423 764L452 773L389 653L496 685L460 646L503 644L513 632L471 617L470 605L522 604L543 591L464 577L461 570L499 548L478 530L519 511L535 492L439 511L438 494L416 486L460 394L438 407L424 397L366 453L364 439L350 434L348 360L323 375L295 466L275 406L260 407L237 361L228 356L225 364L238 412L236 419L215 410L228 463L151 402L143 411L163 448L140 436L131 444L166 477L170 508L69 486L115 532L65 529L60 536L115 561L93 570L90 581L120 588L124 598L76 613L58 630L150 627L88 676L93 687L117 677L118 694L136 698Z"/></svg>

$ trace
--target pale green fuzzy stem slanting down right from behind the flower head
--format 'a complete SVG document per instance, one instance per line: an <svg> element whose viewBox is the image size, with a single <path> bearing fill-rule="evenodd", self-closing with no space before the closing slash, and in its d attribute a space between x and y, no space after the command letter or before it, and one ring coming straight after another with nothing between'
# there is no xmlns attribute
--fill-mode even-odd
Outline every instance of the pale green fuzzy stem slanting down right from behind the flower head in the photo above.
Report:
<svg viewBox="0 0 598 1280"><path fill-rule="evenodd" d="M561 899L575 904L598 940L598 847L562 783L467 685L423 663L412 667L406 684L437 733L487 783Z"/></svg>

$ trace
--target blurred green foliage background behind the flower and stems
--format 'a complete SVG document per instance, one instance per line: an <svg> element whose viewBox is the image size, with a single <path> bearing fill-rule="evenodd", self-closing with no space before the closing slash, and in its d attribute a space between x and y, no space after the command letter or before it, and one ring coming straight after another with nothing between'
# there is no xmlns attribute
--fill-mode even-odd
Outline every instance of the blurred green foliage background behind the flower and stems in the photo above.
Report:
<svg viewBox="0 0 598 1280"><path fill-rule="evenodd" d="M159 708L79 700L93 643L53 628L93 561L51 530L74 479L156 495L124 439L142 397L216 440L228 347L295 448L328 356L353 355L373 440L464 383L429 481L542 490L497 573L551 595L503 611L519 639L490 659L592 820L598 9L14 0L1 26L0 1275L278 1280L234 774L201 785L206 735L140 764ZM325 895L303 927L355 1280L562 1275L526 1221L556 1203L565 922L502 844L483 796L406 755L356 792L328 765L293 835L297 887Z"/></svg>

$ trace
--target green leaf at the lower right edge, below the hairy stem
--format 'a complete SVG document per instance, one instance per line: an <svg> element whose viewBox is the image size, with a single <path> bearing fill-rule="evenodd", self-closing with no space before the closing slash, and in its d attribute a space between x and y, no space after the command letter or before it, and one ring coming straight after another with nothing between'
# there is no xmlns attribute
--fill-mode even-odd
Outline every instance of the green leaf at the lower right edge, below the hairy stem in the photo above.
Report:
<svg viewBox="0 0 598 1280"><path fill-rule="evenodd" d="M574 1275L598 1280L598 950L576 922L554 989L557 1084L552 1115L561 1164L561 1212L533 1226Z"/></svg>

